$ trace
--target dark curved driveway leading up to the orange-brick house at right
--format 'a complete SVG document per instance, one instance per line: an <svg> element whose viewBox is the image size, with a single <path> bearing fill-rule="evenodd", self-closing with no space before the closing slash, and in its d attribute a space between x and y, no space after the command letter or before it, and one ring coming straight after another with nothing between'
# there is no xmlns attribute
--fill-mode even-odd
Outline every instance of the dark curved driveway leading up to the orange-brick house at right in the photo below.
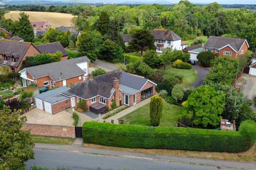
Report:
<svg viewBox="0 0 256 170"><path fill-rule="evenodd" d="M194 84L191 84L190 86L187 86L187 87L197 88L199 86L204 85L203 79L209 73L210 67L203 67L203 66L201 66L200 64L197 63L196 65L193 65L193 68L197 72L197 80Z"/></svg>

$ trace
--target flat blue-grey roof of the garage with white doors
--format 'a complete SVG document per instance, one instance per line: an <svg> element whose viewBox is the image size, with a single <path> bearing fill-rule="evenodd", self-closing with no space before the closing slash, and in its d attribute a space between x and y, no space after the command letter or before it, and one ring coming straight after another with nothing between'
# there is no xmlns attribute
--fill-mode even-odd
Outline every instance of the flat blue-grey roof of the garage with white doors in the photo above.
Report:
<svg viewBox="0 0 256 170"><path fill-rule="evenodd" d="M53 90L49 90L46 92L43 92L42 94L36 95L35 98L44 100L48 103L54 104L58 101L68 99L67 96L61 95L61 92L67 91L70 88L68 87L59 87Z"/></svg>

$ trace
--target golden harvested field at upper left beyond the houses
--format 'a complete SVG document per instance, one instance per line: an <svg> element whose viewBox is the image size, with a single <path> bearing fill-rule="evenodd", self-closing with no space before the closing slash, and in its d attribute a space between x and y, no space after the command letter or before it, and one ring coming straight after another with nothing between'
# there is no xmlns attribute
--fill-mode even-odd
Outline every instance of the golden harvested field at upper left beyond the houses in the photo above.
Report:
<svg viewBox="0 0 256 170"><path fill-rule="evenodd" d="M10 11L4 16L6 19L18 20L20 11ZM71 19L74 17L71 14L57 12L31 12L25 11L29 15L30 22L48 21L52 28L60 26L71 26Z"/></svg>

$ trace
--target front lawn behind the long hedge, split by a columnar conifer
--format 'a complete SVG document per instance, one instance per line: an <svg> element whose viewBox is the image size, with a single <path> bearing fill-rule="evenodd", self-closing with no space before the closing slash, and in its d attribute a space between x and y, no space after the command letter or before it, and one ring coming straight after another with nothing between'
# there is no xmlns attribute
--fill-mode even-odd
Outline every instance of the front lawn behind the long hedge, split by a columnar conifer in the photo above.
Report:
<svg viewBox="0 0 256 170"><path fill-rule="evenodd" d="M131 112L130 114L119 118L119 120L124 120L124 124L150 126L149 111L149 104L147 104ZM175 106L163 101L163 113L160 125L173 127L178 118L180 118L182 111L182 107Z"/></svg>

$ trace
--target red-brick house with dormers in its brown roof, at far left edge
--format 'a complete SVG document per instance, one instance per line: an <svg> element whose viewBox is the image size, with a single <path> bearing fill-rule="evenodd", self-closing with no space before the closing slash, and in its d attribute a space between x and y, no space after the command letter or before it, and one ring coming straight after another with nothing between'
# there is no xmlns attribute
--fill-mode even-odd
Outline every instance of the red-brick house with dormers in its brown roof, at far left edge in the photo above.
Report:
<svg viewBox="0 0 256 170"><path fill-rule="evenodd" d="M8 67L9 71L17 72L27 56L40 54L31 43L0 39L0 66Z"/></svg>

